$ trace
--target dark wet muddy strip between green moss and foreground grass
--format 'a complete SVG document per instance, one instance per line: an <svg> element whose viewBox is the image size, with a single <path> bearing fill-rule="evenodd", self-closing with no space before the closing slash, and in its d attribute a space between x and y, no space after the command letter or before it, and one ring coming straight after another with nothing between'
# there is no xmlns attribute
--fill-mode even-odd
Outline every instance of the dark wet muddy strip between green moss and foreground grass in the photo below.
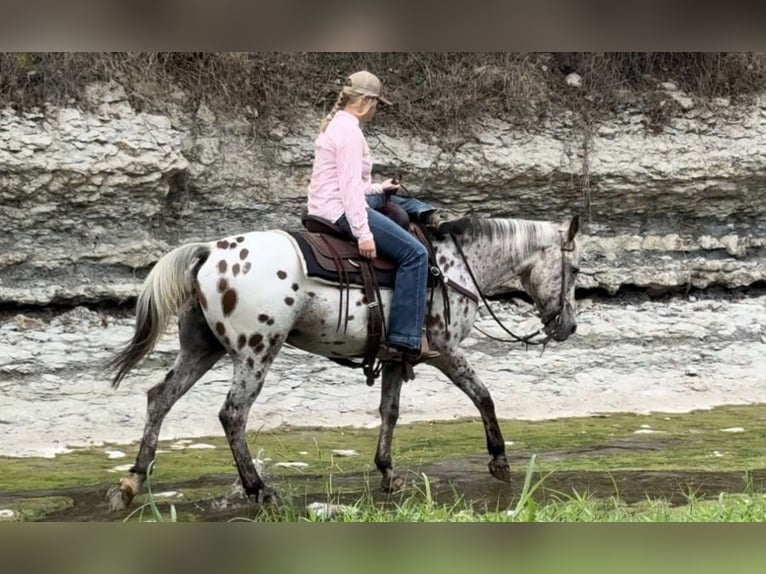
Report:
<svg viewBox="0 0 766 574"><path fill-rule="evenodd" d="M570 456L571 453L547 453L546 456ZM580 452L575 456L587 456ZM510 457L511 465L523 467L526 457ZM271 486L283 497L283 504L299 515L308 514L312 503L354 505L360 500L373 500L376 504L396 504L422 492L422 474L428 477L429 490L433 499L443 504L466 502L477 511L496 511L513 508L519 500L525 480L525 472L512 473L511 483L493 479L486 471L486 456L477 454L460 459L443 460L419 466L416 470L405 471L409 487L402 493L387 494L376 488L377 476L364 473L347 473L332 477L332 496L328 496L328 477L307 473L301 477L272 480ZM172 504L183 519L205 520L208 522L229 521L240 518L257 518L262 509L249 503L241 495L233 495L236 488L234 474L210 474L194 480L166 481L156 485L154 492L161 511L167 515ZM537 500L566 500L573 495L587 494L589 497L619 498L625 504L636 504L647 500L663 500L671 505L687 504L689 496L695 499L714 499L721 493L764 492L766 491L766 470L749 474L747 482L742 471L679 472L656 470L622 471L557 471L534 473L533 484L544 479L544 487L535 492ZM182 493L194 491L199 498L184 497ZM206 490L207 495L200 495ZM61 510L45 515L45 521L114 521L127 518L140 502L124 512L110 512L106 503L107 486L77 487L38 491L0 492L0 506L13 507L24 500L61 497L66 504ZM150 516L146 511L146 516Z"/></svg>

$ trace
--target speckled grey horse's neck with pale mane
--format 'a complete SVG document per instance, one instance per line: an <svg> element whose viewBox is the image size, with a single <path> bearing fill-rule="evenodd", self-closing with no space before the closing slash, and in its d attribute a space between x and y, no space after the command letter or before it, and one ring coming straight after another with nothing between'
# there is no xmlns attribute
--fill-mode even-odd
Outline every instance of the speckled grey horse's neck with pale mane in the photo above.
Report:
<svg viewBox="0 0 766 574"><path fill-rule="evenodd" d="M482 291L518 275L536 251L554 243L558 226L524 219L479 219L461 238L461 246Z"/></svg>

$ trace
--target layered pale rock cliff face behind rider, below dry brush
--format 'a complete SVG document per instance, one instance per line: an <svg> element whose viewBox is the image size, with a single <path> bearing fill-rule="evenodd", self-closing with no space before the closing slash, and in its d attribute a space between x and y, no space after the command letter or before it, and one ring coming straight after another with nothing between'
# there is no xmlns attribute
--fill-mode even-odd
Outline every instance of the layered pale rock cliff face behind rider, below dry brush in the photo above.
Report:
<svg viewBox="0 0 766 574"><path fill-rule="evenodd" d="M740 287L766 278L766 99L684 111L661 131L626 111L523 132L488 119L459 143L372 126L380 177L484 216L585 215L579 285L616 292ZM0 111L0 304L123 301L176 245L297 227L319 117L258 135L204 104L138 112L115 84L91 106ZM176 105L178 104L178 105ZM257 121L257 120L256 120Z"/></svg>

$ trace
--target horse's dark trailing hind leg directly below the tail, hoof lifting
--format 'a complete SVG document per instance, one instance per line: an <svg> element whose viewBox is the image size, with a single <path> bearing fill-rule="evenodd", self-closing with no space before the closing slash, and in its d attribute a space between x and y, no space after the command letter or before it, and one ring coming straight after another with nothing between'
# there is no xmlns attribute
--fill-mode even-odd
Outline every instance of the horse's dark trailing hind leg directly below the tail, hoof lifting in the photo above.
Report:
<svg viewBox="0 0 766 574"><path fill-rule="evenodd" d="M178 337L180 351L173 368L165 375L163 382L147 392L146 424L138 456L130 469L130 476L120 480L119 489L109 492L112 510L127 508L133 497L141 492L149 464L157 451L157 440L165 416L176 401L224 355L224 348L210 331L197 305L187 308L179 316Z"/></svg>

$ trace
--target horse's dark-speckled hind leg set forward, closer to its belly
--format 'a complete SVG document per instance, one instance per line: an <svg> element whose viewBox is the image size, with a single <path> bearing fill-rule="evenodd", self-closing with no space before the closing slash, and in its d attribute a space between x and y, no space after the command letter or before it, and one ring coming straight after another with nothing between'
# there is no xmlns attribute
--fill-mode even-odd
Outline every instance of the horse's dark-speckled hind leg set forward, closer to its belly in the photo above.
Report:
<svg viewBox="0 0 766 574"><path fill-rule="evenodd" d="M266 495L265 485L253 464L253 457L247 446L245 432L247 417L255 399L261 392L266 371L282 347L284 337L274 335L268 346L256 345L233 357L234 379L226 400L218 413L226 439L229 441L234 462L237 465L242 488L248 497L261 503Z"/></svg>

